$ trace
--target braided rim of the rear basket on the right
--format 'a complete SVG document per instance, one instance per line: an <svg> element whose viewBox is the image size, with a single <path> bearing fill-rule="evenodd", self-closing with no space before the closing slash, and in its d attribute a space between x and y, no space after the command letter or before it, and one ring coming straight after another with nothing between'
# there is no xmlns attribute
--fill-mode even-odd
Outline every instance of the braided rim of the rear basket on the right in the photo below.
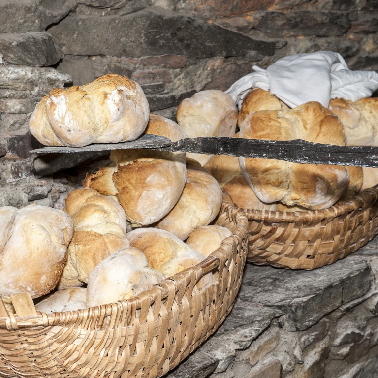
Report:
<svg viewBox="0 0 378 378"><path fill-rule="evenodd" d="M322 210L280 211L241 209L249 221L263 221L264 223L315 223L328 221L344 214L358 212L371 207L378 199L378 184L372 188L364 189L352 198L337 202Z"/></svg>

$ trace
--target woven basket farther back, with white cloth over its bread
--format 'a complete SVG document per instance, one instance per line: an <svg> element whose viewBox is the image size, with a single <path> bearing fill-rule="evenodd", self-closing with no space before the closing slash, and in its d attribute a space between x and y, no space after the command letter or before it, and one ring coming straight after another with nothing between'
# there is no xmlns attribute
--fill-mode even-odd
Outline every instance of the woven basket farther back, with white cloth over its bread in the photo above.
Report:
<svg viewBox="0 0 378 378"><path fill-rule="evenodd" d="M247 261L307 270L332 264L378 233L377 198L375 186L324 210L243 209L249 228Z"/></svg>

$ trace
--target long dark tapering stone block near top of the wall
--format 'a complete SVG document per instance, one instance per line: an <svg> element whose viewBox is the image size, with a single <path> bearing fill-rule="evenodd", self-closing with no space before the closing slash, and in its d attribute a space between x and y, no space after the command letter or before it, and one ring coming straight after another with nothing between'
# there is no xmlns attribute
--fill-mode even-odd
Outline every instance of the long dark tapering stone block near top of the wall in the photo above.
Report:
<svg viewBox="0 0 378 378"><path fill-rule="evenodd" d="M275 49L272 42L158 8L131 13L116 22L109 16L70 14L49 32L62 52L72 55L240 57L251 50L272 55ZM209 40L209 35L216 38Z"/></svg>

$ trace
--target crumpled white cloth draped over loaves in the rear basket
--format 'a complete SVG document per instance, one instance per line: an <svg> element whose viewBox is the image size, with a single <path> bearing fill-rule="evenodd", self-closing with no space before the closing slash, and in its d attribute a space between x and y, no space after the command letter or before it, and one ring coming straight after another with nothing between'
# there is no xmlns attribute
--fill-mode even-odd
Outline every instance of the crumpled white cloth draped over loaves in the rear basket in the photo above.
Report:
<svg viewBox="0 0 378 378"><path fill-rule="evenodd" d="M290 55L267 69L253 66L255 72L237 80L225 92L231 95L239 109L253 88L276 95L294 108L309 101L328 107L331 98L357 101L369 97L378 88L374 71L352 71L339 53L318 51Z"/></svg>

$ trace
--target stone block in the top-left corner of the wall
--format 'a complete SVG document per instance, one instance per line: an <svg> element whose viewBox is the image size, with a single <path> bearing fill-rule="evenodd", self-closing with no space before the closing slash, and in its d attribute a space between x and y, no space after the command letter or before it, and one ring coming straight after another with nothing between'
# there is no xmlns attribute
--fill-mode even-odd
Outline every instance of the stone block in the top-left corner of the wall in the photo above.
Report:
<svg viewBox="0 0 378 378"><path fill-rule="evenodd" d="M0 33L41 32L77 6L78 0L2 0Z"/></svg>

